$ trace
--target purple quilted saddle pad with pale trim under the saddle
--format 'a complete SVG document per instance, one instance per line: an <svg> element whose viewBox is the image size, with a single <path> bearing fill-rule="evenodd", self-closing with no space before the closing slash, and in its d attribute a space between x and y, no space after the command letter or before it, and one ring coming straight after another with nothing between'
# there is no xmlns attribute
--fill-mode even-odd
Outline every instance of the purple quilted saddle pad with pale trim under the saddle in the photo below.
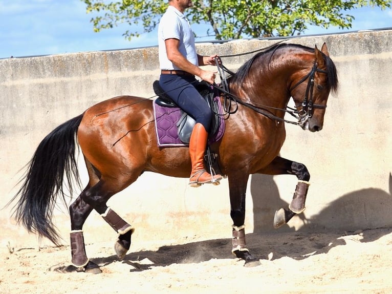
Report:
<svg viewBox="0 0 392 294"><path fill-rule="evenodd" d="M218 96L214 97L214 101L217 101L220 119L219 129L215 134L210 135L208 138L208 144L219 141L225 132L225 120L221 99ZM178 128L176 123L181 117L180 108L170 108L162 107L157 103L153 103L154 116L155 116L155 131L157 134L158 146L160 147L181 147L188 146L188 144L183 143L178 137Z"/></svg>

